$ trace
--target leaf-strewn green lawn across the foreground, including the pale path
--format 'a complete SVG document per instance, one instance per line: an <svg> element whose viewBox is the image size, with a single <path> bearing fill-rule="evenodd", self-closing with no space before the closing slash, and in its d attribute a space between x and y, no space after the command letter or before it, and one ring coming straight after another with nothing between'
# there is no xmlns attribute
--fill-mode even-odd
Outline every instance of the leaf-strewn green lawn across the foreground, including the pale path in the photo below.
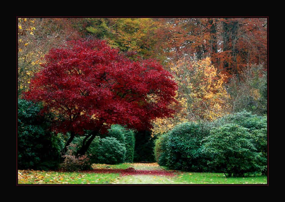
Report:
<svg viewBox="0 0 285 202"><path fill-rule="evenodd" d="M165 170L157 164L93 164L93 168L126 169L136 170ZM266 185L267 176L257 175L249 177L226 178L222 173L193 173L175 171L174 176L164 175L125 175L119 173L81 173L81 172L55 172L19 170L18 185L26 184L60 184L60 185Z"/></svg>

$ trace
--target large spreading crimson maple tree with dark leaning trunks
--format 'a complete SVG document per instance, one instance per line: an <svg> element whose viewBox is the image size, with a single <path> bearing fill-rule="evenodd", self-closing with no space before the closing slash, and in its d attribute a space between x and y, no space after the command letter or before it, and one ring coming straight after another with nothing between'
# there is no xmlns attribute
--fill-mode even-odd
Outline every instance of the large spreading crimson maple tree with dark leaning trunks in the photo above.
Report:
<svg viewBox="0 0 285 202"><path fill-rule="evenodd" d="M52 129L70 132L67 145L75 134L92 131L80 155L111 124L142 130L174 113L176 83L157 61L129 60L100 40L67 42L45 60L25 99L44 103L43 112L56 115Z"/></svg>

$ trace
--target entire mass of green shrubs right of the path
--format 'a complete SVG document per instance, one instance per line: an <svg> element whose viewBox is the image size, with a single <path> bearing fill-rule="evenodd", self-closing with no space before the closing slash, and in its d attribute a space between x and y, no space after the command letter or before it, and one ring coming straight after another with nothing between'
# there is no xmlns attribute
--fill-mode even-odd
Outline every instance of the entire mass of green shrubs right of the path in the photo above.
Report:
<svg viewBox="0 0 285 202"><path fill-rule="evenodd" d="M158 137L154 154L159 165L174 170L266 174L267 117L242 111L217 121L183 123Z"/></svg>

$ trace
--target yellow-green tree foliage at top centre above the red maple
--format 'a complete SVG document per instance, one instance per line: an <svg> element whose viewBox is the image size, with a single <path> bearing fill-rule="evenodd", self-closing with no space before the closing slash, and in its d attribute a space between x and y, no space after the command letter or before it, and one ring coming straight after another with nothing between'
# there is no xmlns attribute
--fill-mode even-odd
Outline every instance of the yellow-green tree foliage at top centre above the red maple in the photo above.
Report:
<svg viewBox="0 0 285 202"><path fill-rule="evenodd" d="M121 52L136 52L141 58L164 58L158 40L162 22L156 18L77 18L72 24L85 36L106 40Z"/></svg>

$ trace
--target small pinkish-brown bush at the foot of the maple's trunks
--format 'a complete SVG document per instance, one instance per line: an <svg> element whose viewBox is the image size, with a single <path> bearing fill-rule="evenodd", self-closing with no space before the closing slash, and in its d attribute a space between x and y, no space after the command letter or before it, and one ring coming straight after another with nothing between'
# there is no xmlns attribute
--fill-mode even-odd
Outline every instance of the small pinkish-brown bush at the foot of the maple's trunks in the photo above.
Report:
<svg viewBox="0 0 285 202"><path fill-rule="evenodd" d="M88 155L76 156L78 146L70 143L67 152L62 156L64 161L60 166L66 169L67 172L78 172L82 168L90 165Z"/></svg>

